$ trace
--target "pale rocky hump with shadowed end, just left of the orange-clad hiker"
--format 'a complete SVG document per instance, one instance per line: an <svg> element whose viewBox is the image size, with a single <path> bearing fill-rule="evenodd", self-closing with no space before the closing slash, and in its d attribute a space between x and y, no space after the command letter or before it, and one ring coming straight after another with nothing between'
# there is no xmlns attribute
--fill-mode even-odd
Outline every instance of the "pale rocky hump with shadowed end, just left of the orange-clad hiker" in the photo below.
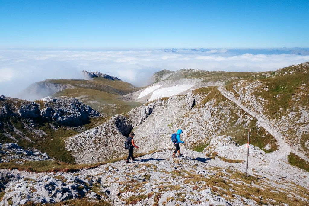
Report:
<svg viewBox="0 0 309 206"><path fill-rule="evenodd" d="M72 136L66 141L77 164L96 163L122 156L125 136L133 129L122 115L113 116L108 122Z"/></svg>

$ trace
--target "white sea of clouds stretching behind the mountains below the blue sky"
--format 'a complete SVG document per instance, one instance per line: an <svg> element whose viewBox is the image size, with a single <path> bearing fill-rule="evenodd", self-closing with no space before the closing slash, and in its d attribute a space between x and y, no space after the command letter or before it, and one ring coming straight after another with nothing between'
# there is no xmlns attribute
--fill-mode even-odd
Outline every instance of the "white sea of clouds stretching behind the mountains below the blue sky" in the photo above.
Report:
<svg viewBox="0 0 309 206"><path fill-rule="evenodd" d="M253 53L253 52L252 52ZM45 79L82 79L82 70L99 71L146 86L163 69L257 72L309 61L309 55L237 54L228 49L197 50L0 50L0 94L16 95Z"/></svg>

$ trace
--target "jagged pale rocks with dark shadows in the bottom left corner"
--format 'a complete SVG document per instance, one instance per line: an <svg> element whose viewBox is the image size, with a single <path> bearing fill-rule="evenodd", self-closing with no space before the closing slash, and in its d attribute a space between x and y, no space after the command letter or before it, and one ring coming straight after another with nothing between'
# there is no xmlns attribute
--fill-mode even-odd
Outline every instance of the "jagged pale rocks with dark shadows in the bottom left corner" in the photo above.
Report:
<svg viewBox="0 0 309 206"><path fill-rule="evenodd" d="M97 200L99 195L89 189L95 180L89 181L86 178L78 178L73 175L65 175L66 181L62 176L51 177L49 175L31 178L22 178L21 176L4 173L10 177L10 184L6 187L6 193L1 206L22 205L30 201L35 204L57 203L70 199L88 199ZM11 203L9 204L9 200Z"/></svg>

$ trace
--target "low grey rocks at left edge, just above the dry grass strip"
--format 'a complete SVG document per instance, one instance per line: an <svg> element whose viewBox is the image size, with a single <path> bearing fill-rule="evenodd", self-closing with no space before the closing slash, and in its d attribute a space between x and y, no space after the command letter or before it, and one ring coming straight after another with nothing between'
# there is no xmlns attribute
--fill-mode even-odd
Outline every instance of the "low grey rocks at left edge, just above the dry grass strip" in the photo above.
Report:
<svg viewBox="0 0 309 206"><path fill-rule="evenodd" d="M44 152L32 152L23 149L16 143L0 143L0 163L15 161L18 164L23 164L23 161L42 161L50 160L49 156Z"/></svg>

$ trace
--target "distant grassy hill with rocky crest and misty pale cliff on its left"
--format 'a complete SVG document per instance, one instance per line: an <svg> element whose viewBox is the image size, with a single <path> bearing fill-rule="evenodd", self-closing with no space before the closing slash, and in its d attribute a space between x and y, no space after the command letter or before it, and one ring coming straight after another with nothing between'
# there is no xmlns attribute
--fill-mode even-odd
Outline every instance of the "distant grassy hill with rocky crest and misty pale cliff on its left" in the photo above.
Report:
<svg viewBox="0 0 309 206"><path fill-rule="evenodd" d="M24 99L36 100L46 96L74 97L100 113L112 116L125 113L141 105L127 101L122 95L138 91L132 84L117 77L99 72L83 71L86 79L46 79L26 88L21 95Z"/></svg>

